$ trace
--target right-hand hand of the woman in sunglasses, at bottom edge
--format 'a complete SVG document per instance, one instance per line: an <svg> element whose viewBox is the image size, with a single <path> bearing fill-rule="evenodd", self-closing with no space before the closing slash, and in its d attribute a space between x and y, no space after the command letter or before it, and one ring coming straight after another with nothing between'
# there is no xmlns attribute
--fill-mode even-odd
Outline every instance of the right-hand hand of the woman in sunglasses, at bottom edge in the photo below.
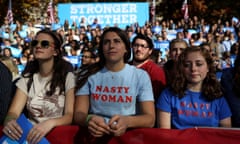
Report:
<svg viewBox="0 0 240 144"><path fill-rule="evenodd" d="M31 144L38 143L53 127L51 120L34 125L27 136L27 141Z"/></svg>

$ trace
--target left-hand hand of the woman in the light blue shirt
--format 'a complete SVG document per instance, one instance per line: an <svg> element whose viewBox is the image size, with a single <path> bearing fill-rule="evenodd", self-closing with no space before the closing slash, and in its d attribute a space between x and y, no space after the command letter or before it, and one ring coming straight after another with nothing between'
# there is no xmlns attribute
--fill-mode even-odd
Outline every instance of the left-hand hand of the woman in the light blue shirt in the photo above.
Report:
<svg viewBox="0 0 240 144"><path fill-rule="evenodd" d="M104 118L97 115L92 115L88 121L88 130L94 137L110 134L110 127L105 123Z"/></svg>

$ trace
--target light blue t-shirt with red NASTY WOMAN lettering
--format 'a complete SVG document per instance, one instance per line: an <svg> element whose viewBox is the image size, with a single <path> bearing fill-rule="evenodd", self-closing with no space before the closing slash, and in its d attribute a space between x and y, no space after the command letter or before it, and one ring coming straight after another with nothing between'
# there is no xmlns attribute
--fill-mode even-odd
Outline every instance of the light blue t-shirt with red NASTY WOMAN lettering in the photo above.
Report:
<svg viewBox="0 0 240 144"><path fill-rule="evenodd" d="M76 95L90 96L90 113L109 120L113 115L135 115L137 102L154 101L148 74L125 64L123 70L106 68L90 76Z"/></svg>

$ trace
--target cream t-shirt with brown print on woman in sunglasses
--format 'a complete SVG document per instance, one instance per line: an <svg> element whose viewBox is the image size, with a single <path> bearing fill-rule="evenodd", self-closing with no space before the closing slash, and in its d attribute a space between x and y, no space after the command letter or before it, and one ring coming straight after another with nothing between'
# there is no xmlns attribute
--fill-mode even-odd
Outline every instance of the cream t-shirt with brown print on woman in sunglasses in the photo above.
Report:
<svg viewBox="0 0 240 144"><path fill-rule="evenodd" d="M39 123L50 118L61 117L64 112L66 93L75 86L75 77L69 72L65 82L65 92L59 95L59 88L56 88L52 96L46 96L46 91L50 84L47 84L51 76L41 77L39 73L33 75L33 82L28 92L27 82L29 78L19 79L16 83L27 96L27 110L29 119L33 123Z"/></svg>

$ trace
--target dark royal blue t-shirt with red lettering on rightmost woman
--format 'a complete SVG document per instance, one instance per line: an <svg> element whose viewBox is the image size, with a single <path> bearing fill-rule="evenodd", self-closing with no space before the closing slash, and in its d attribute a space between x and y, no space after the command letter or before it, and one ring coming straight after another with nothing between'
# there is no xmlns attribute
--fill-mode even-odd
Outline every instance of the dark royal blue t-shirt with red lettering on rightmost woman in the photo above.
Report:
<svg viewBox="0 0 240 144"><path fill-rule="evenodd" d="M157 108L171 113L171 127L219 127L219 121L231 117L231 111L224 97L207 101L201 92L186 91L179 99L169 88L160 95Z"/></svg>

